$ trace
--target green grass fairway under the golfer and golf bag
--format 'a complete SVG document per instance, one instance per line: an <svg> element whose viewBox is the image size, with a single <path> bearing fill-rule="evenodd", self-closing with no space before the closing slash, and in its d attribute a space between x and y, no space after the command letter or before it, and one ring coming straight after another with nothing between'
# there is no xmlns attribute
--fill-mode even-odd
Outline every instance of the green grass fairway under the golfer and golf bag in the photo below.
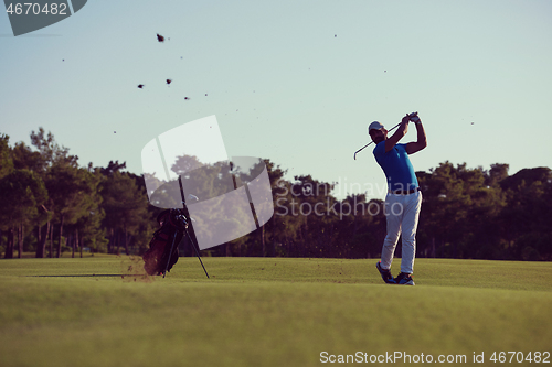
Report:
<svg viewBox="0 0 552 367"><path fill-rule="evenodd" d="M338 364L321 352L497 366L493 352L552 352L552 263L417 259L403 287L375 261L204 258L206 279L180 258L147 280L121 278L127 257L0 260L0 366Z"/></svg>

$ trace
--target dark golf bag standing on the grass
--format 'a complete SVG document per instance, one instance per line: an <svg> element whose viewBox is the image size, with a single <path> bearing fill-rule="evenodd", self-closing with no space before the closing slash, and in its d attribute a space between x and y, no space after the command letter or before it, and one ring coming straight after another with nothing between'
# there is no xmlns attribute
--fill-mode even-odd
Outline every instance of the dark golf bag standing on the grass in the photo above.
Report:
<svg viewBox="0 0 552 367"><path fill-rule="evenodd" d="M178 261L178 245L182 240L185 220L182 223L179 209L167 209L157 216L161 226L153 233L149 250L144 253L144 269L150 276L164 274Z"/></svg>

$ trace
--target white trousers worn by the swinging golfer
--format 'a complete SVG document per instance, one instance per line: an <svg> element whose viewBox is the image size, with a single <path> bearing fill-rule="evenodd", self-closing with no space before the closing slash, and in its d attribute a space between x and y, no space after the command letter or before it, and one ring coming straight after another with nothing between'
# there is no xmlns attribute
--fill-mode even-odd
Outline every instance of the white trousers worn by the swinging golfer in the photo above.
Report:
<svg viewBox="0 0 552 367"><path fill-rule="evenodd" d="M390 269L393 262L399 236L402 235L403 256L401 272L414 272L416 255L416 228L422 208L422 193L410 195L388 194L385 197L385 216L388 217L388 235L381 251L381 267Z"/></svg>

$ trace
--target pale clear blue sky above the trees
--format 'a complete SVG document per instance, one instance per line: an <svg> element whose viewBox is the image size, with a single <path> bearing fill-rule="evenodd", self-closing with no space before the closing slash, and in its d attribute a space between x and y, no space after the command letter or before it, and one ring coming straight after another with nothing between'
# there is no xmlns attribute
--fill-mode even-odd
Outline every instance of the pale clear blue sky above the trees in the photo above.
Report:
<svg viewBox="0 0 552 367"><path fill-rule="evenodd" d="M17 37L0 14L0 132L30 144L43 127L83 166L141 174L149 141L214 115L229 156L342 197L385 185L371 147L353 153L370 122L412 111L428 141L416 171L552 166L548 0L89 0Z"/></svg>

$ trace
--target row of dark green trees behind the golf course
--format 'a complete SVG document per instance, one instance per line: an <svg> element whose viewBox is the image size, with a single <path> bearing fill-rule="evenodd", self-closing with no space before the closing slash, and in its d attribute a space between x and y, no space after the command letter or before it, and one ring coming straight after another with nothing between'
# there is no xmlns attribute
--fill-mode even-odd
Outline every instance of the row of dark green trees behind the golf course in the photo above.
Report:
<svg viewBox="0 0 552 367"><path fill-rule="evenodd" d="M142 175L126 164L78 165L44 129L31 144L10 145L0 134L0 252L3 258L73 257L83 251L141 255L162 211L149 204ZM200 164L181 158L174 172ZM385 237L381 199L332 195L336 183L296 175L270 160L267 168L274 215L261 228L202 251L203 256L376 258ZM220 172L216 164L210 170ZM216 171L219 170L219 171ZM417 257L552 260L552 172L509 165L489 170L440 163L416 172L423 195ZM212 185L217 187L216 184ZM210 195L213 195L211 193ZM389 209L389 208L388 208ZM181 244L183 256L193 256ZM400 246L399 246L400 252ZM400 255L400 253L399 253Z"/></svg>

